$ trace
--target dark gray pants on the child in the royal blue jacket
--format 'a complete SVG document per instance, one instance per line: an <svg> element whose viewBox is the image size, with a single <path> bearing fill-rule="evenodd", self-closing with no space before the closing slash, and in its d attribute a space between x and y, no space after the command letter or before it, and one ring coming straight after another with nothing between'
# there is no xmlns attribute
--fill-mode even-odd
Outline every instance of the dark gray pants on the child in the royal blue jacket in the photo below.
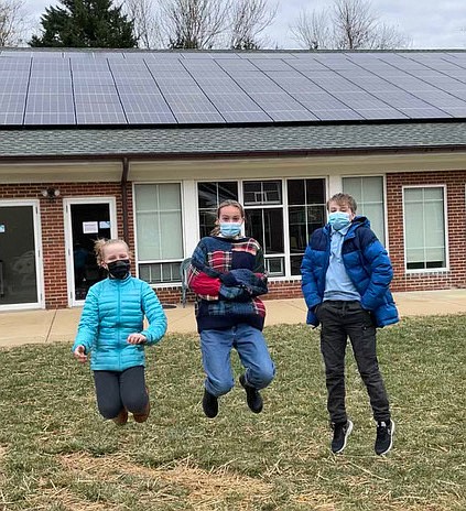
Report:
<svg viewBox="0 0 466 511"><path fill-rule="evenodd" d="M366 384L376 421L389 421L390 407L376 352L376 327L359 302L323 302L316 311L322 324L321 350L325 362L327 410L333 423L347 420L345 407L345 352L347 338L359 374Z"/></svg>

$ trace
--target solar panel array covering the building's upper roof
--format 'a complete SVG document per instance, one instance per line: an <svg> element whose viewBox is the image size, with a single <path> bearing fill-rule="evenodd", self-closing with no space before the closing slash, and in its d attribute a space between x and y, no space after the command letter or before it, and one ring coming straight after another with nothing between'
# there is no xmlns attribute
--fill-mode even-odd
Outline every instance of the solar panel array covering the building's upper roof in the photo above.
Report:
<svg viewBox="0 0 466 511"><path fill-rule="evenodd" d="M466 117L466 53L0 52L0 126Z"/></svg>

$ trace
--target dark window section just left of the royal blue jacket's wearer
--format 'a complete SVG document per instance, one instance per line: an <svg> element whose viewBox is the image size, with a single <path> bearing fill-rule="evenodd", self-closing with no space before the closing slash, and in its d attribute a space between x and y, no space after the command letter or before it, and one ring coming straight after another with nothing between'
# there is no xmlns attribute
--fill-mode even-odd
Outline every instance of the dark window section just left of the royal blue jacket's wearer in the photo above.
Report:
<svg viewBox="0 0 466 511"><path fill-rule="evenodd" d="M311 235L325 224L325 180L288 181L288 222L291 274L301 274L301 261Z"/></svg>

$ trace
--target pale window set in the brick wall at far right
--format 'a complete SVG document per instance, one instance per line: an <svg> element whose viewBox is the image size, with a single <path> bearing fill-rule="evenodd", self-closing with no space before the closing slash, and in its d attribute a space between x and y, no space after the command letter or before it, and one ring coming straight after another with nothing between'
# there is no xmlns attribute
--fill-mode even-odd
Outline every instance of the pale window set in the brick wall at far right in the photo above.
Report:
<svg viewBox="0 0 466 511"><path fill-rule="evenodd" d="M403 206L407 270L446 268L444 187L405 187Z"/></svg>

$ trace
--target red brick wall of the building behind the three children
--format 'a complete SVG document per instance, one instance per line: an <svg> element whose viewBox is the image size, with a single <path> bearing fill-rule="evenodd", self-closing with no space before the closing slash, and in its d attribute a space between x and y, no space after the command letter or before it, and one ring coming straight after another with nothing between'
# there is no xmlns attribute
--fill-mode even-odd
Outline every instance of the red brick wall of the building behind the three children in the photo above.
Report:
<svg viewBox="0 0 466 511"><path fill-rule="evenodd" d="M448 198L448 240L449 270L446 272L425 272L405 274L402 219L403 185L446 185ZM389 226L389 249L393 263L393 291L438 290L466 287L465 258L465 185L466 171L399 173L387 175L387 208ZM53 200L42 197L44 188L58 188L61 195ZM118 236L122 232L122 200L119 183L29 183L8 185L0 189L0 198L39 198L41 202L42 246L44 261L45 305L47 308L66 307L66 258L64 238L63 199L65 197L113 196L117 202ZM131 185L127 188L128 204L128 242L134 246L133 205ZM170 286L156 290L164 303L180 303L181 287ZM281 281L270 284L267 298L301 297L300 281ZM188 301L193 295L188 293Z"/></svg>

